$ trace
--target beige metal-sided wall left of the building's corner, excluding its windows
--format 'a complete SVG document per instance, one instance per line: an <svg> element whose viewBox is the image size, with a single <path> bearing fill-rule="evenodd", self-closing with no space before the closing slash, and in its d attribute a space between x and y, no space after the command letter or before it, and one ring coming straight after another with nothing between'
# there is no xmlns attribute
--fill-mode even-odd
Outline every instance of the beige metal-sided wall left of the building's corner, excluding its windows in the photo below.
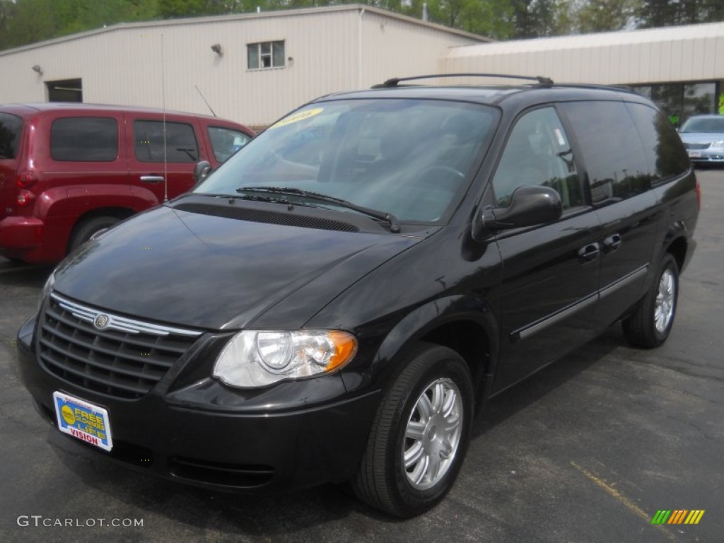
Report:
<svg viewBox="0 0 724 543"><path fill-rule="evenodd" d="M46 101L44 82L80 77L87 103L162 107L165 94L167 109L211 114L198 85L220 117L269 125L320 94L357 87L355 25L356 12L340 11L86 35L0 55L1 70L17 74L1 78L0 103ZM247 44L276 40L285 40L285 56L294 61L248 70ZM211 51L214 43L223 56Z"/></svg>

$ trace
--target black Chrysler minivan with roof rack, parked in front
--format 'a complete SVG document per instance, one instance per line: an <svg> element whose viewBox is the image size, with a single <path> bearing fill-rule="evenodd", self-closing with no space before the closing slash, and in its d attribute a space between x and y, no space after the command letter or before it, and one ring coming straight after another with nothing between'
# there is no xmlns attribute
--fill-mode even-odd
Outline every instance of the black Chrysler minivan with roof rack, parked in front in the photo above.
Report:
<svg viewBox="0 0 724 543"><path fill-rule="evenodd" d="M22 378L59 431L149 473L350 481L416 515L489 397L618 321L666 340L699 198L674 128L623 88L324 96L63 261Z"/></svg>

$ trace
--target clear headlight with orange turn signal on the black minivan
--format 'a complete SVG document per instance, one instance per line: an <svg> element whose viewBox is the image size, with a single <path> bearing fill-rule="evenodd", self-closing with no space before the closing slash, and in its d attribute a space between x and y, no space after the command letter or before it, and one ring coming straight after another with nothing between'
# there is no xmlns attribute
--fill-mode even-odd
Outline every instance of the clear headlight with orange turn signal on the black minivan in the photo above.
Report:
<svg viewBox="0 0 724 543"><path fill-rule="evenodd" d="M244 330L227 343L214 376L232 387L265 387L282 379L329 374L357 352L357 340L340 330Z"/></svg>

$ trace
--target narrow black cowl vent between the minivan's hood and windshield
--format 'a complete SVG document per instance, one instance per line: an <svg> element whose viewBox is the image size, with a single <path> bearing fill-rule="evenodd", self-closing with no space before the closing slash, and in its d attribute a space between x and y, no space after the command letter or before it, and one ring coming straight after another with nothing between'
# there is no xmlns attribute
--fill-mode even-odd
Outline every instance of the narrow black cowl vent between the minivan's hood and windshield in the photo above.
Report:
<svg viewBox="0 0 724 543"><path fill-rule="evenodd" d="M359 232L360 229L354 224L326 219L320 216L300 215L283 213L282 211L271 211L267 209L250 209L236 206L212 206L204 203L179 203L174 209L199 213L203 215L221 216L225 219L237 219L239 221L264 222L266 224L284 224L302 228L316 228L317 230L338 230L340 232Z"/></svg>

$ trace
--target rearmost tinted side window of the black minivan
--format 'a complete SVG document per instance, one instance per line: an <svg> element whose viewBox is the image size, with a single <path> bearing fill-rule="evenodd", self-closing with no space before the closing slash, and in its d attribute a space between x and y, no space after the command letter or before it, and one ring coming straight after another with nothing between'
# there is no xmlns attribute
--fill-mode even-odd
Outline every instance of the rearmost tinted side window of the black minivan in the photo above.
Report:
<svg viewBox="0 0 724 543"><path fill-rule="evenodd" d="M641 140L656 180L681 175L689 169L689 157L669 119L644 104L626 104L639 128Z"/></svg>

